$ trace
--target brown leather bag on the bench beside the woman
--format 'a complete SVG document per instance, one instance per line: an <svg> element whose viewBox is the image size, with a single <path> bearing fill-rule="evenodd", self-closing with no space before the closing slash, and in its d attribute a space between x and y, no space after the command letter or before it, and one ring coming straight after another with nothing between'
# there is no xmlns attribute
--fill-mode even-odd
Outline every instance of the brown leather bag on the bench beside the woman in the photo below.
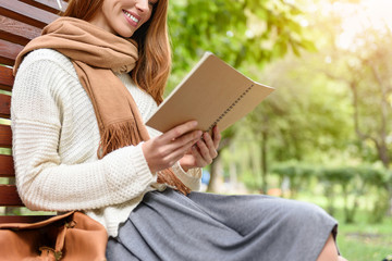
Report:
<svg viewBox="0 0 392 261"><path fill-rule="evenodd" d="M105 227L82 212L0 224L0 261L103 261L107 241Z"/></svg>

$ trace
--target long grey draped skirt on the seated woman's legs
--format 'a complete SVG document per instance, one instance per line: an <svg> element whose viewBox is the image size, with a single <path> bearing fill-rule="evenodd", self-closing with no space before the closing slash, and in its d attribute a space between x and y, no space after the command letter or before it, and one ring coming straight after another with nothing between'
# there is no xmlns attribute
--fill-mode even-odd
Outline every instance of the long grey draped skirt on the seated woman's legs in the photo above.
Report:
<svg viewBox="0 0 392 261"><path fill-rule="evenodd" d="M315 261L336 221L321 208L262 195L146 194L110 237L108 261Z"/></svg>

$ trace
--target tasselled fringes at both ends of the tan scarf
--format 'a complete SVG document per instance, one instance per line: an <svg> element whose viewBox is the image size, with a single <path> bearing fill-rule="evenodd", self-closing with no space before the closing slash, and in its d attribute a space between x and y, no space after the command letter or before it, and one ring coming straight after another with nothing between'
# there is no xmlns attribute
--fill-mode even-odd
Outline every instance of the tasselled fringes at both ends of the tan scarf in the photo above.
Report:
<svg viewBox="0 0 392 261"><path fill-rule="evenodd" d="M131 122L114 123L105 128L101 134L101 140L98 148L98 159L102 159L106 154L113 150L120 149L130 145L138 145L140 134L137 130L136 124ZM179 190L184 195L188 195L191 189L186 187L171 169L158 172L158 183L166 184L171 188Z"/></svg>

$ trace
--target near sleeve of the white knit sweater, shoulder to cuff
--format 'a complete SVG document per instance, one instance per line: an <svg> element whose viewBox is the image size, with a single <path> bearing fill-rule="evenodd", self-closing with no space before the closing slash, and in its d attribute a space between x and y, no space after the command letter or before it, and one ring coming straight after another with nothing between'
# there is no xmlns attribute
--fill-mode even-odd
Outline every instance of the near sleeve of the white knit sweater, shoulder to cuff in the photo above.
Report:
<svg viewBox="0 0 392 261"><path fill-rule="evenodd" d="M77 78L50 59L28 61L25 58L16 75L11 108L16 185L27 208L97 209L132 200L156 182L142 144L101 160L65 163L59 152L64 104L58 90Z"/></svg>

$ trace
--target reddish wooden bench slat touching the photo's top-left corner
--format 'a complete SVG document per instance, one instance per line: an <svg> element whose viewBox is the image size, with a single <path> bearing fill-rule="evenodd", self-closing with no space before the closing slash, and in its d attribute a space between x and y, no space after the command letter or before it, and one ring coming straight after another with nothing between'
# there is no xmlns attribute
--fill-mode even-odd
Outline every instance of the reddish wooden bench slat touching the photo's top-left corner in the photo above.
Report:
<svg viewBox="0 0 392 261"><path fill-rule="evenodd" d="M40 28L58 17L53 13L16 0L0 0L0 14Z"/></svg>

